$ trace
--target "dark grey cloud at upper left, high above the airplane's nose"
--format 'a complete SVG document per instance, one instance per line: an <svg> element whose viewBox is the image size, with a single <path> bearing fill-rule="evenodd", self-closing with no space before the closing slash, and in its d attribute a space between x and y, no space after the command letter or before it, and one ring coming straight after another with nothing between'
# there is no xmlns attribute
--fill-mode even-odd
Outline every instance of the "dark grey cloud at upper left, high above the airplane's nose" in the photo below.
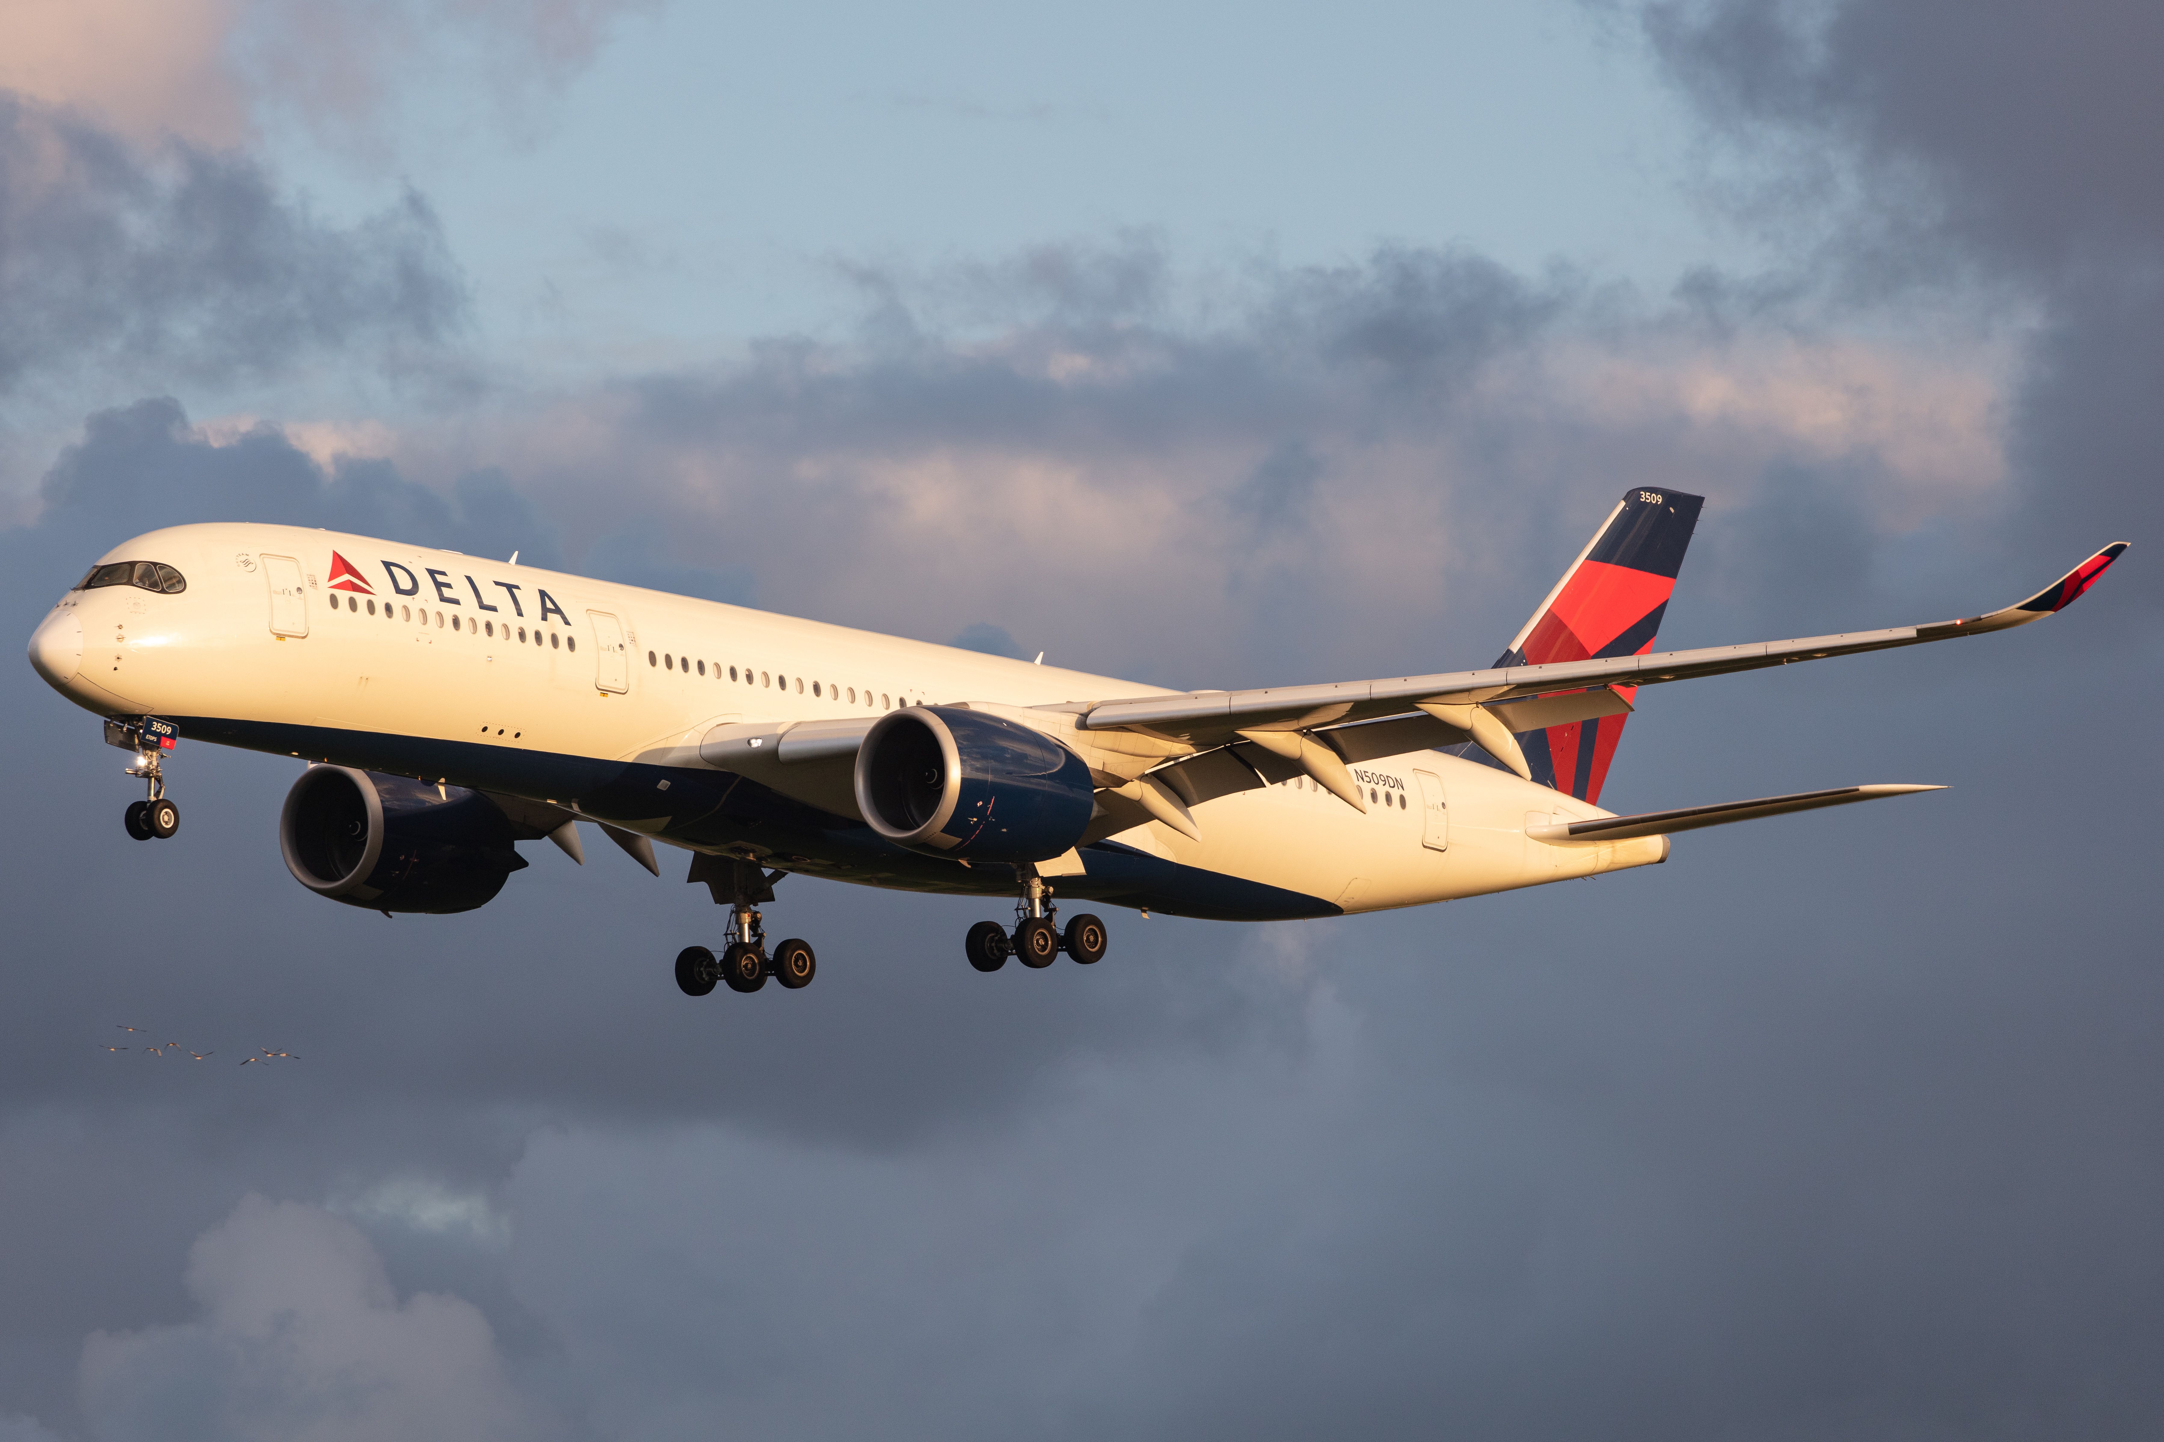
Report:
<svg viewBox="0 0 2164 1442"><path fill-rule="evenodd" d="M91 363L180 383L325 350L426 350L463 313L418 195L342 229L255 160L143 153L0 91L0 398Z"/></svg>

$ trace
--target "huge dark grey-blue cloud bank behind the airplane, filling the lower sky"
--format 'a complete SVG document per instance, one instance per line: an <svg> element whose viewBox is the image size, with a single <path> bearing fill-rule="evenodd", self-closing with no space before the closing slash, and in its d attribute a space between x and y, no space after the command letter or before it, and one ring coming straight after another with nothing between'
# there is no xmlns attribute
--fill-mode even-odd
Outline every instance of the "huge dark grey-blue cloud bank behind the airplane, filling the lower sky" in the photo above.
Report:
<svg viewBox="0 0 2164 1442"><path fill-rule="evenodd" d="M1885 519L1885 437L1634 400L1690 324L1617 326L1617 385L1549 365L1601 322L1569 277L1398 249L1197 322L1153 264L896 283L857 346L628 380L580 445L541 409L441 491L100 413L0 532L0 610L26 636L119 536L247 515L1342 679L1489 659L1649 478L1725 504L1664 640L2013 599L1961 528ZM959 958L995 902L792 878L766 919L818 984L703 1001L682 863L589 837L467 917L329 906L270 837L290 761L184 744L182 837L126 841L123 757L17 664L0 1228L39 1245L0 1250L0 1414L232 1436L368 1379L394 1433L439 1397L634 1438L2145 1436L2164 997L2153 763L2110 804L2093 765L2153 705L2093 670L2119 582L1649 687L1608 798L1954 785L1883 815L1344 923L1117 912L1104 964L995 977ZM301 1059L102 1053L121 1020Z"/></svg>

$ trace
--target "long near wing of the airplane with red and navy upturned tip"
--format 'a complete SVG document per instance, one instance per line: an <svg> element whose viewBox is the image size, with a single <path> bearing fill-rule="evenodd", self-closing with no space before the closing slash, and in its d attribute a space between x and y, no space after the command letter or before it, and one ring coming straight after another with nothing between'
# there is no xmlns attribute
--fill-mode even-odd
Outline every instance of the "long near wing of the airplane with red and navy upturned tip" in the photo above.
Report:
<svg viewBox="0 0 2164 1442"><path fill-rule="evenodd" d="M2036 595L1982 616L1941 620L1932 625L1891 627L1885 631L1846 631L1842 636L1807 636L1800 640L1755 642L1749 646L1707 646L1703 651L1660 651L1588 662L1552 662L1545 666L1504 666L1493 670L1456 670L1433 677L1394 677L1383 681L1340 681L1329 685L1264 687L1251 692L1188 692L1182 696L1138 696L1134 700L1099 700L1082 711L1084 731L1143 731L1197 748L1225 746L1240 735L1298 733L1316 726L1402 716L1430 709L1443 722L1465 726L1474 707L1493 709L1508 724L1500 703L1541 696L1554 716L1539 724L1571 720L1571 700L1560 692L1584 694L1584 716L1610 713L1617 705L1614 685L1653 685L1718 677L1731 670L1790 666L1829 655L1857 655L1894 646L1917 646L1956 636L1982 636L2041 620L2071 605L2088 590L2103 569L2127 549L2116 540ZM1485 718L1472 718L1478 729ZM1513 726L1515 729L1515 726ZM1478 731L1476 731L1478 735Z"/></svg>

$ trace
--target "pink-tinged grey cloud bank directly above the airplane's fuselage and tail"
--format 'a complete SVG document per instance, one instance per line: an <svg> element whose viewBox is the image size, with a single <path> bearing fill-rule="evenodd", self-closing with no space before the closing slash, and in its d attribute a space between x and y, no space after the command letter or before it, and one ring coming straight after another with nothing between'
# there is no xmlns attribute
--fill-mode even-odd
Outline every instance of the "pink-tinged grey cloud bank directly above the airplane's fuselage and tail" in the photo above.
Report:
<svg viewBox="0 0 2164 1442"><path fill-rule="evenodd" d="M1404 246L1249 272L1197 313L1134 244L861 268L850 339L491 400L403 456L500 465L569 536L664 517L638 549L731 569L727 599L933 640L995 618L1030 655L1186 685L1322 679L1294 657L1324 646L1352 646L1324 675L1487 662L1629 484L1712 495L1710 528L1822 489L1874 549L2008 504L1989 326L1889 339L1798 303L1738 331ZM1783 590L1779 625L1809 599Z"/></svg>

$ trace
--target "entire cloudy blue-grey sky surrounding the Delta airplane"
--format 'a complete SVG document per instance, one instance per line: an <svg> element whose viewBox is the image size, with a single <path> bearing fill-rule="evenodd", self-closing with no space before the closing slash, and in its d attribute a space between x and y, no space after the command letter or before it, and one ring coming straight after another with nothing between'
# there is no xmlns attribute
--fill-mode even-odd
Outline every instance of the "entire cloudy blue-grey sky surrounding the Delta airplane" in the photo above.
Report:
<svg viewBox="0 0 2164 1442"><path fill-rule="evenodd" d="M2160 43L6 6L24 640L210 519L1182 687L1480 666L1625 486L1707 495L1664 646L2134 549L1974 649L1649 690L1604 802L1941 793L989 977L974 902L790 878L820 979L701 1001L721 914L612 847L385 921L286 876L290 763L186 744L132 843L22 664L0 1442L2153 1438Z"/></svg>

